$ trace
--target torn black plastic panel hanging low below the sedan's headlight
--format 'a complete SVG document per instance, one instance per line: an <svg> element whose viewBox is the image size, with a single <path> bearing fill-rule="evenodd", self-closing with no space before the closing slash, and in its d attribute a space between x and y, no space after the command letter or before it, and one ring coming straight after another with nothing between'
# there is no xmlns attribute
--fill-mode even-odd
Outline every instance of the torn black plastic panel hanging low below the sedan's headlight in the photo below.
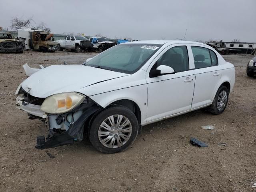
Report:
<svg viewBox="0 0 256 192"><path fill-rule="evenodd" d="M36 140L37 145L35 148L37 149L53 148L74 143L74 138L66 132L55 133L52 137L46 138L46 141L44 140L44 136L39 136Z"/></svg>

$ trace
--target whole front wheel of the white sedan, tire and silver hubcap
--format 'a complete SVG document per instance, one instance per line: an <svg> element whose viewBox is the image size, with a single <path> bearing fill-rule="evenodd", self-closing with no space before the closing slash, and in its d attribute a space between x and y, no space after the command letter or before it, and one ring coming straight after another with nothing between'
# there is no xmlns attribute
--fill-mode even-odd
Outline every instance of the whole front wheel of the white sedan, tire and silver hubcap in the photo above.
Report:
<svg viewBox="0 0 256 192"><path fill-rule="evenodd" d="M117 153L126 150L138 135L138 120L125 106L106 108L93 120L89 139L96 150Z"/></svg>

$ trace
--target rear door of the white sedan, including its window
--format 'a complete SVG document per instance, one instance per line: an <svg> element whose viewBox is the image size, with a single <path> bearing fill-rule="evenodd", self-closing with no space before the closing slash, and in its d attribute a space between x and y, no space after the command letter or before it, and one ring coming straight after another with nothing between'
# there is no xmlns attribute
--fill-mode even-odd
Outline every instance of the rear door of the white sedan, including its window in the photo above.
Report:
<svg viewBox="0 0 256 192"><path fill-rule="evenodd" d="M221 78L218 58L207 46L191 45L196 75L192 109L211 104Z"/></svg>

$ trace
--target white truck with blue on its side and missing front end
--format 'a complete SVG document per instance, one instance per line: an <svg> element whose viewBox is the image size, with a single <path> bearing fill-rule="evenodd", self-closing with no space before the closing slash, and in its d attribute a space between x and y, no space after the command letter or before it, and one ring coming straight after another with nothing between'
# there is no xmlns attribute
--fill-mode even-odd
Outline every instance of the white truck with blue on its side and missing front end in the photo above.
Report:
<svg viewBox="0 0 256 192"><path fill-rule="evenodd" d="M89 40L92 44L93 50L97 50L100 53L115 45L115 42L108 41L104 37L91 37Z"/></svg>

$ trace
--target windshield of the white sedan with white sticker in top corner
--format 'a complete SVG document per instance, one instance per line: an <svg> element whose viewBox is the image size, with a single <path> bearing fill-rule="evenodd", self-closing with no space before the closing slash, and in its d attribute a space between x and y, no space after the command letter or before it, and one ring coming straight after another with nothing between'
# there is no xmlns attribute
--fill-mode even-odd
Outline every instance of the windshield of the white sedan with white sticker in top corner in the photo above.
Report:
<svg viewBox="0 0 256 192"><path fill-rule="evenodd" d="M119 44L85 64L116 72L133 74L161 47L158 44Z"/></svg>

